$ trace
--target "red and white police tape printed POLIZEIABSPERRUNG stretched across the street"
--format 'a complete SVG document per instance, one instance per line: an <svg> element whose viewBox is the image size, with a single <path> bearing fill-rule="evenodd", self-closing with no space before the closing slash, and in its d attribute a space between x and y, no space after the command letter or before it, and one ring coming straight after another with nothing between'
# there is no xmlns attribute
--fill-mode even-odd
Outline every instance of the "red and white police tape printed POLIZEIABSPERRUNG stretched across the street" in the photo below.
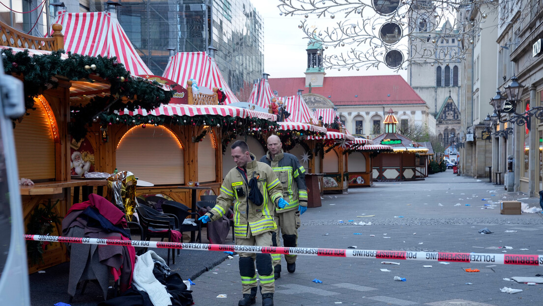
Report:
<svg viewBox="0 0 543 306"><path fill-rule="evenodd" d="M113 240L97 238L77 238L46 235L24 235L26 240L84 243L89 245L122 245L150 248L179 248L206 251L230 251L247 253L312 255L328 257L376 258L395 260L452 261L457 263L481 263L499 265L543 266L543 255L484 254L484 253L445 253L445 252L407 252L375 251L367 249L336 249L306 247L263 247L238 245L211 245L207 243L180 243L141 240Z"/></svg>

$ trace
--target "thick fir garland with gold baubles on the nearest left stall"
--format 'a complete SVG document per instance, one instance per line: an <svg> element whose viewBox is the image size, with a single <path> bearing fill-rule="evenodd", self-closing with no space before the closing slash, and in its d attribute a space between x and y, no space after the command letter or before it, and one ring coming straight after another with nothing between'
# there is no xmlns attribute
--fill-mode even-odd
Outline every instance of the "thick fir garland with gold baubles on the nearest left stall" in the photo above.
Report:
<svg viewBox="0 0 543 306"><path fill-rule="evenodd" d="M156 81L132 77L117 58L90 57L88 55L68 52L68 58L62 59L63 50L51 54L30 56L28 50L12 52L11 48L0 51L3 57L4 72L22 76L24 83L24 102L27 109L34 108L34 98L48 88L56 88L59 84L57 76L68 80L86 80L95 82L96 76L111 86L108 96L91 99L85 106L72 108L70 133L75 140L86 135L88 124L94 116L102 112L113 114L113 111L127 108L151 110L160 104L168 104L175 91L165 91Z"/></svg>

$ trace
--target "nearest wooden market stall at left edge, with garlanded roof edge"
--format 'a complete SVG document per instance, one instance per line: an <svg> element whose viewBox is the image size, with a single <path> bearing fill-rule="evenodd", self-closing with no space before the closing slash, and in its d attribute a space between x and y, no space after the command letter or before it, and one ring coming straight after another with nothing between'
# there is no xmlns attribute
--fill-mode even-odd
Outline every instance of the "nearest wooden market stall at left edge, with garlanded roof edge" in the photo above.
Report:
<svg viewBox="0 0 543 306"><path fill-rule="evenodd" d="M71 134L86 134L87 123L96 114L83 111L85 105L92 105L90 99L95 98L93 101L102 108L105 103L110 107L151 108L168 103L171 94L149 82L125 83L134 79L117 61L56 53L66 49L60 24L53 24L52 38L45 39L3 23L0 27L4 71L24 83L27 114L15 121L14 136L19 175L28 179L26 183L34 183L20 190L25 227L36 220L53 220L51 232L32 234L60 235L61 225L56 218L64 217L73 203L86 199L89 193L105 191L105 180L79 179L80 173L74 173L77 179L72 177L72 171L94 170L90 166L93 156L71 152L72 147L80 145L72 141ZM136 97L144 97L144 92L154 96L154 101ZM74 105L78 107L75 113ZM79 120L72 121L72 116ZM29 249L29 258L36 259L29 262L30 273L67 260L65 246L60 243L44 244L43 248L43 254Z"/></svg>

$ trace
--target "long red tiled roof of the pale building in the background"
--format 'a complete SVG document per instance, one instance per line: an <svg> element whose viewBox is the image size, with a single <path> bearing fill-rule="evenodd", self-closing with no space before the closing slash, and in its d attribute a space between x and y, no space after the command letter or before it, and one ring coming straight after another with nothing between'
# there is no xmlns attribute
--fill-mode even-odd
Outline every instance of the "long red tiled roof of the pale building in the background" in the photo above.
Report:
<svg viewBox="0 0 543 306"><path fill-rule="evenodd" d="M292 96L299 89L309 92L305 77L270 78L268 82L278 96ZM311 93L330 99L334 105L425 104L401 76L324 77L323 86L312 86Z"/></svg>

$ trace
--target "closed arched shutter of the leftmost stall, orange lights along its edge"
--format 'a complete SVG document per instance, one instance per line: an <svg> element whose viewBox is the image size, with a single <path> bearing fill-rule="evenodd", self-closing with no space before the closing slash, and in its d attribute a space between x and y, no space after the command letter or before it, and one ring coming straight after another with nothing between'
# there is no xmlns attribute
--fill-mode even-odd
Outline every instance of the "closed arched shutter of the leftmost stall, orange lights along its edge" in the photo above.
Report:
<svg viewBox="0 0 543 306"><path fill-rule="evenodd" d="M34 103L21 123L15 124L14 138L19 177L31 180L55 178L55 143L45 108Z"/></svg>

